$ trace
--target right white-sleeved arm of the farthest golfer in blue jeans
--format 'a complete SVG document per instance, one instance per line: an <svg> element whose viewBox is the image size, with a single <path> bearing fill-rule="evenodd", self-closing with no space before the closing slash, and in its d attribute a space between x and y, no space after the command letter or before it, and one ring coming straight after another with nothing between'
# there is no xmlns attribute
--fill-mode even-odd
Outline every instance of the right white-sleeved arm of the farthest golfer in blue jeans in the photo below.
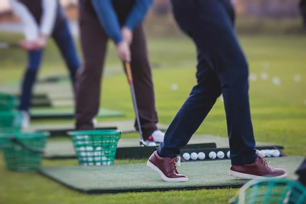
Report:
<svg viewBox="0 0 306 204"><path fill-rule="evenodd" d="M54 29L54 24L57 15L57 0L43 0L41 1L42 16L40 25L40 34L50 36Z"/></svg>

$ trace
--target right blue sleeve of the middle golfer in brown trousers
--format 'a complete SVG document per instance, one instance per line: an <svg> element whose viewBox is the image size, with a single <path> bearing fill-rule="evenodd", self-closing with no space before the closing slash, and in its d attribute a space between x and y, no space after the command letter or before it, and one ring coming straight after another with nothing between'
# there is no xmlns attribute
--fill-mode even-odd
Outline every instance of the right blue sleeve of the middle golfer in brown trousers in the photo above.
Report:
<svg viewBox="0 0 306 204"><path fill-rule="evenodd" d="M127 16L124 27L131 31L144 19L149 8L152 5L152 0L136 0L136 4Z"/></svg>

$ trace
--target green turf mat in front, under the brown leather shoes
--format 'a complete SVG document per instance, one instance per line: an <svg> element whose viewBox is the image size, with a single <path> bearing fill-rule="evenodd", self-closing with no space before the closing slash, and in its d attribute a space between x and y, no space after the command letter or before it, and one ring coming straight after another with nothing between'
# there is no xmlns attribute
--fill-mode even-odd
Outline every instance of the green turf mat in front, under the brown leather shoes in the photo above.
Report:
<svg viewBox="0 0 306 204"><path fill-rule="evenodd" d="M296 179L296 168L304 157L269 158L273 167L284 168L289 179ZM145 164L112 166L43 167L39 172L68 188L83 193L119 193L136 191L187 190L241 187L248 180L229 175L230 161L191 162L178 167L188 182L166 183Z"/></svg>

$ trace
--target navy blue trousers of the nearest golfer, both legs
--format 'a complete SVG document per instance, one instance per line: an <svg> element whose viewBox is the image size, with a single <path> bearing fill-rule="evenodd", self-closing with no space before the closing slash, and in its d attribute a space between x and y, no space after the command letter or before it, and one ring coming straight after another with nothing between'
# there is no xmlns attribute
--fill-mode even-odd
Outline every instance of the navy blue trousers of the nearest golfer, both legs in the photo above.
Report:
<svg viewBox="0 0 306 204"><path fill-rule="evenodd" d="M174 18L197 48L197 84L177 112L158 152L174 158L222 93L233 165L258 158L249 107L248 64L236 38L228 0L172 0Z"/></svg>

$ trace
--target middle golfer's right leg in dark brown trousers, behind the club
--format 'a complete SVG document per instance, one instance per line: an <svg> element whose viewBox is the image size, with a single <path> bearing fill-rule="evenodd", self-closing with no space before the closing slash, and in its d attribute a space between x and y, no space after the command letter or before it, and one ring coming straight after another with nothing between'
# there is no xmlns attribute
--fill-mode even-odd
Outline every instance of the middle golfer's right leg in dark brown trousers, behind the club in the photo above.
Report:
<svg viewBox="0 0 306 204"><path fill-rule="evenodd" d="M146 39L141 24L134 30L131 54L131 69L141 130L143 139L147 140L157 130L156 124L158 122L158 116L155 108L154 85L152 82ZM138 130L137 122L135 122L135 128Z"/></svg>

